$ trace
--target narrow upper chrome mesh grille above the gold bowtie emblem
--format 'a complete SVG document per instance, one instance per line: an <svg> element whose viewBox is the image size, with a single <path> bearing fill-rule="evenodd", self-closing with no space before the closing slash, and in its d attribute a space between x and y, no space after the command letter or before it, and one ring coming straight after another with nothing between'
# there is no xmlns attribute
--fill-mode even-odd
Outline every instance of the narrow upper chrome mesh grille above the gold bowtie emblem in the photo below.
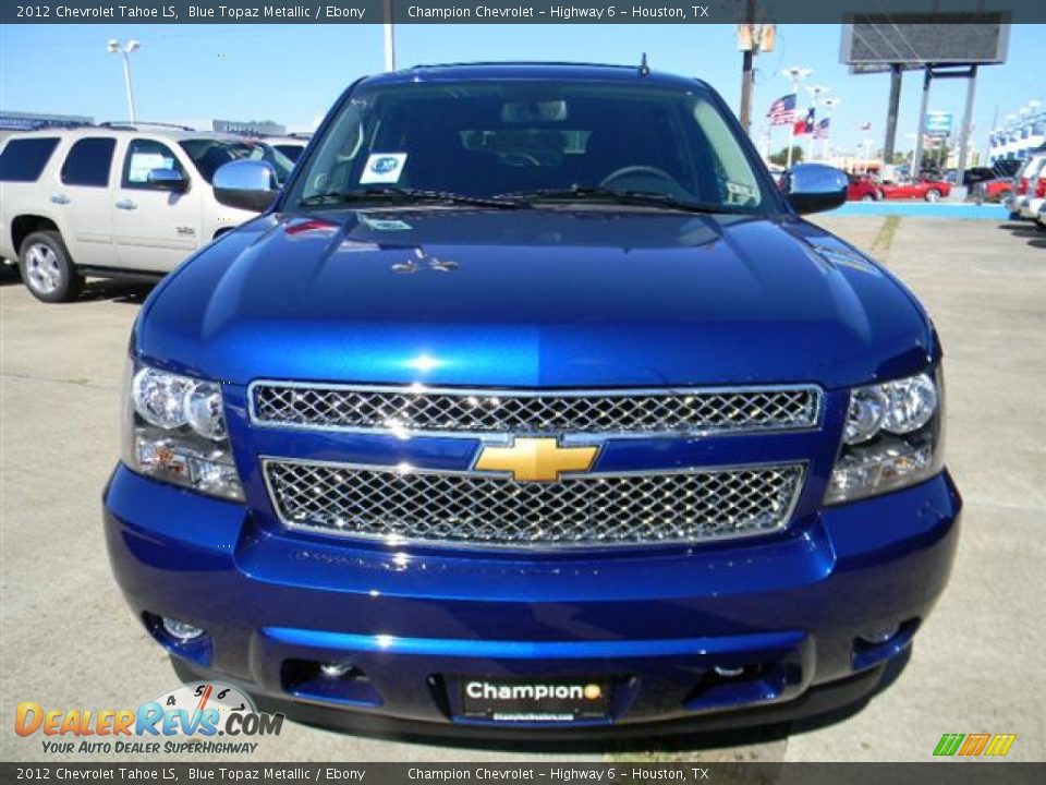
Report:
<svg viewBox="0 0 1046 785"><path fill-rule="evenodd" d="M467 391L256 383L254 422L469 434L737 433L813 427L816 387L594 392Z"/></svg>

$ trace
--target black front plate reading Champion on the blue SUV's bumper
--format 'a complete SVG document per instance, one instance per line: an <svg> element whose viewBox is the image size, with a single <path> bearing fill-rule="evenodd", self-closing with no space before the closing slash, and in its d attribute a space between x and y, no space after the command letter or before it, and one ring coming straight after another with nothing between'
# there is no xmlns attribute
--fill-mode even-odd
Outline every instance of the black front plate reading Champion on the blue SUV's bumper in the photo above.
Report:
<svg viewBox="0 0 1046 785"><path fill-rule="evenodd" d="M496 722L606 720L612 685L606 678L462 678L463 716Z"/></svg>

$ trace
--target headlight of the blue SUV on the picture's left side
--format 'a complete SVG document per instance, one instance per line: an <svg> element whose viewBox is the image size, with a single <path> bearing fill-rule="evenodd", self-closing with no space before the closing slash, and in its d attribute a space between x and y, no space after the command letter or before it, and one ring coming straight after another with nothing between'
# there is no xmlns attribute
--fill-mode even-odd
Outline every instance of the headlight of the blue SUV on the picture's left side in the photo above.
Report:
<svg viewBox="0 0 1046 785"><path fill-rule="evenodd" d="M243 500L220 385L134 363L127 375L123 462L139 474Z"/></svg>

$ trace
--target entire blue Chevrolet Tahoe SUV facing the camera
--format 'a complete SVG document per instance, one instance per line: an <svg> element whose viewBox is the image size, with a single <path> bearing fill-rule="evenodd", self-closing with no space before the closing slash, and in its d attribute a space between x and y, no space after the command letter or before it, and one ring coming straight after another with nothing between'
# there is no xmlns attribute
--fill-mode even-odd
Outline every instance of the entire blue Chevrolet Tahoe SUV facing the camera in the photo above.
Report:
<svg viewBox="0 0 1046 785"><path fill-rule="evenodd" d="M764 723L874 690L948 579L941 349L706 84L360 80L131 339L113 570L185 677L466 736ZM294 713L296 712L296 714Z"/></svg>

